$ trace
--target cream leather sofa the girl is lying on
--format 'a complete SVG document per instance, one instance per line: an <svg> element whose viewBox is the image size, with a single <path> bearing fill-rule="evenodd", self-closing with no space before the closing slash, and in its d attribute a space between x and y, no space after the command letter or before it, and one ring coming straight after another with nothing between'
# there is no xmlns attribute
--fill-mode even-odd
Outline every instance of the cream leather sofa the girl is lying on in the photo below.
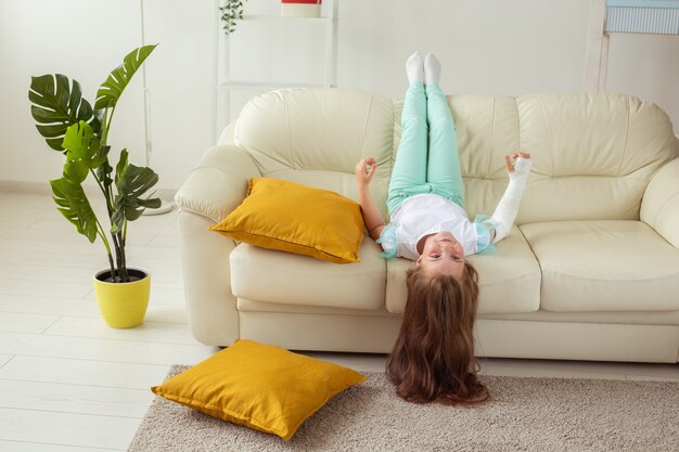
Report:
<svg viewBox="0 0 679 452"><path fill-rule="evenodd" d="M476 352L674 362L679 350L679 140L656 105L620 94L449 96L471 218L491 214L503 156L534 168L510 236L479 272ZM412 262L336 264L239 244L208 227L273 177L357 199L355 164L380 164L384 206L401 99L340 89L254 98L176 196L189 323L203 344L251 338L296 350L389 352ZM386 208L383 209L386 218Z"/></svg>

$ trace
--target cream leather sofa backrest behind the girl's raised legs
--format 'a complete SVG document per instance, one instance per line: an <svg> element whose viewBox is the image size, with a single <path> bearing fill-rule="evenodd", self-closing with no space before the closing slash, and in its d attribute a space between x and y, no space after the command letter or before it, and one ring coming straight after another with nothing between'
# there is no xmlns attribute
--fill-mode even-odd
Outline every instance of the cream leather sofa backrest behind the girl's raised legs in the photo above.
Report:
<svg viewBox="0 0 679 452"><path fill-rule="evenodd" d="M667 115L623 94L451 95L465 209L492 214L508 177L504 155L535 160L518 223L639 219L651 177L676 158ZM357 199L354 167L375 157L371 185L386 218L386 192L400 141L402 99L341 89L289 89L254 98L234 141L262 176L333 190Z"/></svg>

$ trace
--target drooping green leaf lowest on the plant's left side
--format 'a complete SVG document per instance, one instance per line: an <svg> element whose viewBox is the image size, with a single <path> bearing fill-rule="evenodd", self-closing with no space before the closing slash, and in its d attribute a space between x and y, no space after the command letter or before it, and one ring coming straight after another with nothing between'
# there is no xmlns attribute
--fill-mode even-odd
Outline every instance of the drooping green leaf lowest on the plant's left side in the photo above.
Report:
<svg viewBox="0 0 679 452"><path fill-rule="evenodd" d="M97 238L97 215L79 183L64 178L50 181L57 210L90 242Z"/></svg>

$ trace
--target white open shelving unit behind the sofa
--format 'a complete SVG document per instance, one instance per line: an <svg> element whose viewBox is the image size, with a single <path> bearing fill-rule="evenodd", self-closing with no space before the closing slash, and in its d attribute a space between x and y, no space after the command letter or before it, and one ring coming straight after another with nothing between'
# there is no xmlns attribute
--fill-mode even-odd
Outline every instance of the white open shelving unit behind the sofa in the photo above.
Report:
<svg viewBox="0 0 679 452"><path fill-rule="evenodd" d="M282 27L306 27L309 25L324 26L324 61L323 81L311 80L282 81L271 79L267 81L253 81L247 79L233 79L231 70L231 36L226 35L221 28L219 14L217 14L217 42L215 46L215 96L213 101L213 138L216 141L222 128L228 125L231 118L231 92L253 91L262 92L280 88L302 88L302 87L336 87L337 86L337 12L340 0L324 0L321 17L284 17L273 14L243 14L243 18L238 21L238 27L242 23L281 24ZM218 11L218 0L215 2L215 11ZM284 39L284 37L282 38ZM257 49L266 54L266 49Z"/></svg>

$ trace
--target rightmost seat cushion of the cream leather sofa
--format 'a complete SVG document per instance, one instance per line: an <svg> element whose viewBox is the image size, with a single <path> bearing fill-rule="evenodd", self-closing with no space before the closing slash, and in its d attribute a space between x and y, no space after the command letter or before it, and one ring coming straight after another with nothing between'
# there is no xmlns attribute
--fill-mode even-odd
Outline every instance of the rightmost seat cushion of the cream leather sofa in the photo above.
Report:
<svg viewBox="0 0 679 452"><path fill-rule="evenodd" d="M521 230L542 268L543 310L679 310L679 249L648 224L563 221Z"/></svg>

